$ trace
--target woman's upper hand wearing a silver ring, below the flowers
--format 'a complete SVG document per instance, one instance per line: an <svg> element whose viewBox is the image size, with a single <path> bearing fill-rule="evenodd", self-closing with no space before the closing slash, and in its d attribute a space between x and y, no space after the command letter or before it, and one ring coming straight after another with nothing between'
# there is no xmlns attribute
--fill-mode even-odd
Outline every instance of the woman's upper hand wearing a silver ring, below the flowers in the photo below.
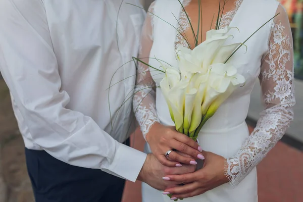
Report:
<svg viewBox="0 0 303 202"><path fill-rule="evenodd" d="M181 163L196 165L195 159L204 159L200 152L202 148L172 126L155 123L147 133L146 141L156 158L165 166L181 167ZM165 154L170 149L176 149L185 155L172 151L169 158L166 158Z"/></svg>

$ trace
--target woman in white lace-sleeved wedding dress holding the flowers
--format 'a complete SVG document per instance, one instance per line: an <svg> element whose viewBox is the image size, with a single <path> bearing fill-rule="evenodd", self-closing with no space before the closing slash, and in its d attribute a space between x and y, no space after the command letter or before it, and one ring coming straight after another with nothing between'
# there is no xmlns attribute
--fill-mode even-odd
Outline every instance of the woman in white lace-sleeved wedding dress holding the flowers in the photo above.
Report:
<svg viewBox="0 0 303 202"><path fill-rule="evenodd" d="M200 26L198 0L181 1L193 30L200 29L199 42L203 42L206 32L214 28L212 19L218 13L218 1L201 1L203 24ZM221 0L221 5L223 3ZM186 13L177 0L155 1L149 12L141 35L139 58L153 67L160 66L158 60L176 66L175 49L179 45L188 47L183 36L188 38L191 48L195 46ZM177 198L185 198L185 202L258 201L256 166L281 139L293 119L291 30L285 10L275 0L229 0L224 13L220 28L231 26L239 29L239 32L233 29L235 32L231 34L234 37L230 37L226 44L243 42L269 19L279 15L245 43L247 49L240 48L231 58L230 63L237 67L246 83L233 92L202 128L198 135L200 147L197 148L195 142L172 129L174 123L166 101L161 89L157 88L163 73L144 64L138 66L133 107L148 143L146 152L154 153L167 166L180 167L198 162L194 173L159 176L163 180L182 184L178 187L158 191L143 183L143 202ZM249 135L245 118L250 92L258 77L266 108L254 132ZM202 149L199 153L198 150ZM167 151L171 152L168 154ZM203 166L199 159L204 159ZM166 194L170 194L171 198Z"/></svg>

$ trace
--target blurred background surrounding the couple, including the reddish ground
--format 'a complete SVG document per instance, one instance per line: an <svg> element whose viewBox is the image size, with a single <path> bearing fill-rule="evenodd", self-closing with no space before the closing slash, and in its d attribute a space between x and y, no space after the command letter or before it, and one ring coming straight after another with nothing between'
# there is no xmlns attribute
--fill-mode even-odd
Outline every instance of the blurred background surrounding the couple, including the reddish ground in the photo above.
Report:
<svg viewBox="0 0 303 202"><path fill-rule="evenodd" d="M147 9L153 1L141 2ZM303 0L280 2L288 12L294 38L297 104L295 119L286 135L258 165L259 202L303 201ZM257 81L246 119L250 131L263 109L260 92ZM132 146L143 150L145 141L140 131L136 130L131 138ZM140 189L140 182L127 182L123 202L141 202ZM0 75L0 202L32 201L23 140L12 111L9 90Z"/></svg>

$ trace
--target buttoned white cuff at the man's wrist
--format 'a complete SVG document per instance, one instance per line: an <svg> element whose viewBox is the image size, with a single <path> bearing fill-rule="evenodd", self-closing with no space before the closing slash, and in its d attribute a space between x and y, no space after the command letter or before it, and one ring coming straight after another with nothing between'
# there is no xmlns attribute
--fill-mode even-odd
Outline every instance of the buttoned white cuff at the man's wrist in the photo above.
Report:
<svg viewBox="0 0 303 202"><path fill-rule="evenodd" d="M135 182L145 162L146 154L125 144L118 143L116 154L108 170Z"/></svg>

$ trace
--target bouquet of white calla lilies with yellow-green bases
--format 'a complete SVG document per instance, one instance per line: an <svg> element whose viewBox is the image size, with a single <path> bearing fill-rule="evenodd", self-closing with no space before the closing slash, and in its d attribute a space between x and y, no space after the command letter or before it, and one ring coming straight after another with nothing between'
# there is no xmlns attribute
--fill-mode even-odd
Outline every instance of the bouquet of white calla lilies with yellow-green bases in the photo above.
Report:
<svg viewBox="0 0 303 202"><path fill-rule="evenodd" d="M165 77L160 88L168 104L176 130L193 140L225 99L245 78L226 63L240 45L224 45L230 27L207 32L206 40L193 48L179 46L177 67L161 65Z"/></svg>

